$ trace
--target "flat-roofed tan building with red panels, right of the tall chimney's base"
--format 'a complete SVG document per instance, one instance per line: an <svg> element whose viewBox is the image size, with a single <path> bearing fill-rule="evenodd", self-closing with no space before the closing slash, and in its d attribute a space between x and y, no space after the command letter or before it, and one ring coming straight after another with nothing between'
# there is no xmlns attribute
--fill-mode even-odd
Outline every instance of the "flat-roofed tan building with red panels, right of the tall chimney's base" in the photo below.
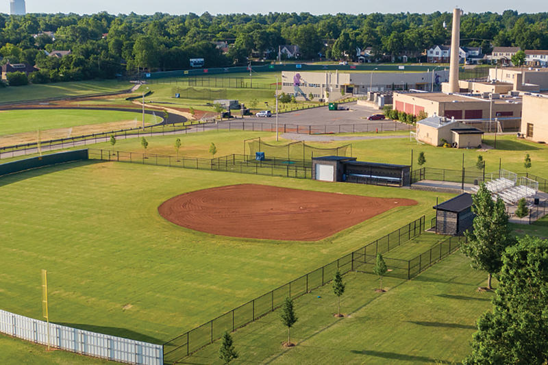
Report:
<svg viewBox="0 0 548 365"><path fill-rule="evenodd" d="M521 118L521 99L498 94L493 95L493 103L491 103L490 95L469 97L443 92L395 92L393 108L399 112L414 115L419 115L422 110L429 116L436 114L457 120Z"/></svg>

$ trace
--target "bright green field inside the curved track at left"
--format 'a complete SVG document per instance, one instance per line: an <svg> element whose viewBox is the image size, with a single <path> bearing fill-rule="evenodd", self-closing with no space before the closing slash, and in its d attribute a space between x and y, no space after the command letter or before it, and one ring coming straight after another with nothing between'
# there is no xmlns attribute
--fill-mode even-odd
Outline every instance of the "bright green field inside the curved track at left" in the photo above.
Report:
<svg viewBox="0 0 548 365"><path fill-rule="evenodd" d="M158 113L161 114L160 112ZM28 131L70 128L119 121L142 121L134 112L107 110L7 110L0 112L0 136ZM145 114L145 123L158 123L159 116Z"/></svg>

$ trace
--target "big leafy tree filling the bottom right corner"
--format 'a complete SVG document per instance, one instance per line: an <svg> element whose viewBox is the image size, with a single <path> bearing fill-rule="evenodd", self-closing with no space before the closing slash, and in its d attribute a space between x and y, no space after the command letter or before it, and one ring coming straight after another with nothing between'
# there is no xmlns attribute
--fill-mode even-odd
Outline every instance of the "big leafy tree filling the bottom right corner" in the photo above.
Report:
<svg viewBox="0 0 548 365"><path fill-rule="evenodd" d="M503 255L493 310L477 320L465 365L544 365L548 359L548 241L521 238Z"/></svg>

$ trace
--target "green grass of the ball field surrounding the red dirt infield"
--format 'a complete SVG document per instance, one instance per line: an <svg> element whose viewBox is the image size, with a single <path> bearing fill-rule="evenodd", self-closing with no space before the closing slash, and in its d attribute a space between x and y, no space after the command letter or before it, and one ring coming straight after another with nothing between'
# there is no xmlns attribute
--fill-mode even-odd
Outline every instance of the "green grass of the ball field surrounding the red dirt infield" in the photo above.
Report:
<svg viewBox="0 0 548 365"><path fill-rule="evenodd" d="M409 197L394 188L114 162L2 177L0 307L40 318L40 269L47 268L52 321L161 343L431 215L436 197L414 192L419 205L319 242L212 236L158 214L158 205L177 194L242 183Z"/></svg>

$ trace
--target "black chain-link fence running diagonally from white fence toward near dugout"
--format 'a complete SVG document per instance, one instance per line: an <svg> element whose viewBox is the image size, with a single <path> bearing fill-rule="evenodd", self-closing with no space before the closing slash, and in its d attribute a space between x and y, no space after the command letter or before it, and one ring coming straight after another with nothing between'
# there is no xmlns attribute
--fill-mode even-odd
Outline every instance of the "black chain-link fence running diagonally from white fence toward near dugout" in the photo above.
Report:
<svg viewBox="0 0 548 365"><path fill-rule="evenodd" d="M386 253L390 251L390 249L398 247L403 242L420 236L424 228L425 216L421 216L421 218L416 219L416 221L404 225L383 238L379 238L378 240L367 244L361 249L344 255L334 262L317 268L244 305L240 305L240 307L234 308L234 310L226 312L222 316L183 333L181 336L169 340L164 343L164 362L166 364L176 364L184 357L187 357L191 353L208 344L212 344L212 342L221 338L225 331L235 331L258 318L273 312L282 305L286 297L292 299L301 297L313 289L324 286L332 281L337 270L342 274L356 270L355 265L358 263L361 264L362 257L359 255L362 252L369 250L371 253Z"/></svg>

